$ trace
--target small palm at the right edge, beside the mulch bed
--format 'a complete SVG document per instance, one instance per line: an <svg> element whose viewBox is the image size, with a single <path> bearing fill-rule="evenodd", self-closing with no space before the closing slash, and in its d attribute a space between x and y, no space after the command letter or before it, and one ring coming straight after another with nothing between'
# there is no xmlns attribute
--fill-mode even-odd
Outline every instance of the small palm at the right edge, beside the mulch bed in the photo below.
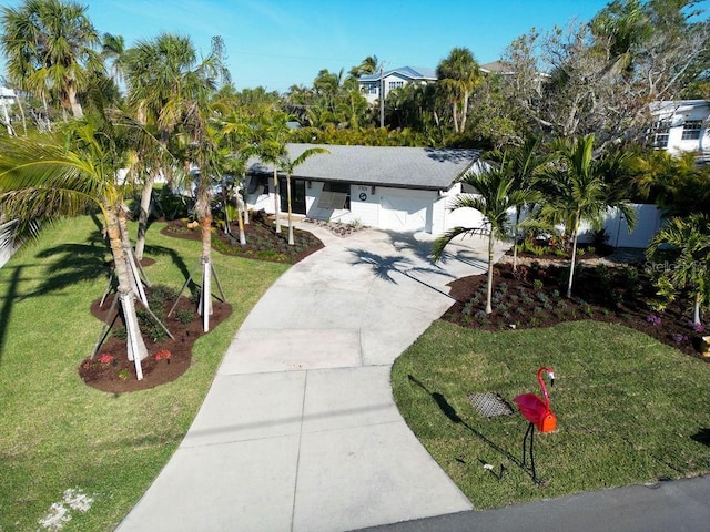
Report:
<svg viewBox="0 0 710 532"><path fill-rule="evenodd" d="M692 323L700 325L700 311L710 304L710 216L692 214L670 218L651 238L649 260L668 264L657 279L659 294L673 299L679 291L692 294Z"/></svg>

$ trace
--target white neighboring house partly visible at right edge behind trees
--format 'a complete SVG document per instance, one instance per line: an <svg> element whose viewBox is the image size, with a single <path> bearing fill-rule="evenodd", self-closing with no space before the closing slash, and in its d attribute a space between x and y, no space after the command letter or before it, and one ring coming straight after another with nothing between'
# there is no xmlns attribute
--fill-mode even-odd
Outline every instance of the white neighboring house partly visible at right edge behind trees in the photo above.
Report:
<svg viewBox="0 0 710 532"><path fill-rule="evenodd" d="M697 151L700 162L710 162L710 101L680 100L651 104L655 122L651 140L657 150L672 155Z"/></svg>

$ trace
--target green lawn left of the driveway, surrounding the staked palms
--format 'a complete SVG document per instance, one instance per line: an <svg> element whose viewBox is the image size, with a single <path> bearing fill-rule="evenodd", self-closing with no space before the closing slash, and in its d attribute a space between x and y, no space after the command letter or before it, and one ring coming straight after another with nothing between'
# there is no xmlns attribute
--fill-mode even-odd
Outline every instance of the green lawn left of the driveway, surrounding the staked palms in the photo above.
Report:
<svg viewBox="0 0 710 532"><path fill-rule="evenodd" d="M200 243L148 233L153 284L199 278ZM132 227L134 234L134 227ZM152 390L110 395L77 374L101 323L106 246L90 217L50 228L0 269L0 530L39 530L67 489L94 500L65 531L113 530L182 440L250 309L287 266L213 253L232 316L201 337L193 366ZM169 504L170 501L166 501Z"/></svg>

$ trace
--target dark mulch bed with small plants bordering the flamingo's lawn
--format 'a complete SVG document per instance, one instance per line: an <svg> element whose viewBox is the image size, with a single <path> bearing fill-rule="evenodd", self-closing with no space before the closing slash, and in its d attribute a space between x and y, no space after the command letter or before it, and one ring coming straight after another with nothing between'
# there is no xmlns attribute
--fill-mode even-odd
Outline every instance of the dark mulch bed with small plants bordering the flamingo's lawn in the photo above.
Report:
<svg viewBox="0 0 710 532"><path fill-rule="evenodd" d="M493 313L485 314L487 275L474 275L449 284L457 299L443 319L462 327L481 330L508 330L550 327L564 321L595 319L630 327L680 351L702 358L701 337L694 330L688 300L678 298L663 311L649 307L656 288L641 265L612 267L578 265L575 269L572 298L565 297L568 266L532 262L494 267Z"/></svg>

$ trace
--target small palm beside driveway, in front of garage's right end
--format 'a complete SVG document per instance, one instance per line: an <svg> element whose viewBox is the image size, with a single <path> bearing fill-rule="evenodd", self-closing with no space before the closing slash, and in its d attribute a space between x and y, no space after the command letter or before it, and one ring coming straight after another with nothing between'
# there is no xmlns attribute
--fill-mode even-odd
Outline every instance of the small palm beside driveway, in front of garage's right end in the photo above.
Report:
<svg viewBox="0 0 710 532"><path fill-rule="evenodd" d="M442 258L444 248L459 235L488 235L488 283L486 314L493 311L493 264L494 243L508 238L511 229L510 211L532 201L532 193L515 188L515 177L509 167L488 167L481 173L468 172L462 183L474 187L478 194L462 194L457 197L452 211L457 208L475 208L484 215L480 227L454 227L434 242L433 257Z"/></svg>

